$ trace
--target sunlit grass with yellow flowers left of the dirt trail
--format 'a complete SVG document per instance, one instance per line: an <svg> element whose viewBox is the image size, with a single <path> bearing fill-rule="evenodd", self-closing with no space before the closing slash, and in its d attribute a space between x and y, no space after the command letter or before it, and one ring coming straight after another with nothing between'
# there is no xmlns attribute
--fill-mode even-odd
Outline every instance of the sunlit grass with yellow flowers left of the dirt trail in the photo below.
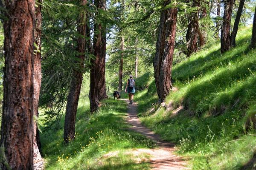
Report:
<svg viewBox="0 0 256 170"><path fill-rule="evenodd" d="M155 144L144 136L128 130L124 101L106 99L98 112L89 113L87 94L81 94L76 116L76 139L63 142L64 117L58 130L41 133L47 170L148 170L147 161L136 163L129 150L151 148ZM41 127L44 130L44 127ZM107 153L110 156L105 156ZM148 156L140 155L148 160Z"/></svg>

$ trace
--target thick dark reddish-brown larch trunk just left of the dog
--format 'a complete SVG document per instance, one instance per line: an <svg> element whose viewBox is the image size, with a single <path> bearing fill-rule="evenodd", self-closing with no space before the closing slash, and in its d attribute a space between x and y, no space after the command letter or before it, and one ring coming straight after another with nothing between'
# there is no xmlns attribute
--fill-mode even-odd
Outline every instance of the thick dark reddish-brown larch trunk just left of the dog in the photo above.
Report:
<svg viewBox="0 0 256 170"><path fill-rule="evenodd" d="M95 0L96 14L93 34L93 55L90 61L90 111L98 109L99 101L107 98L105 80L105 59L106 59L106 27L101 22L102 11L106 10L105 0Z"/></svg>

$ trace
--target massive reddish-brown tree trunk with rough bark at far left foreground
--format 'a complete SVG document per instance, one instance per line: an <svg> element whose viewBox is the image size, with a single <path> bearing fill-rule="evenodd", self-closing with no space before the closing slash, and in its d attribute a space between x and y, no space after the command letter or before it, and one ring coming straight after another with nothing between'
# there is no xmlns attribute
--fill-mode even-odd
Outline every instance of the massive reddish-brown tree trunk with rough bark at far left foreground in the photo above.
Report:
<svg viewBox="0 0 256 170"><path fill-rule="evenodd" d="M6 0L5 5L0 169L32 170L35 1Z"/></svg>

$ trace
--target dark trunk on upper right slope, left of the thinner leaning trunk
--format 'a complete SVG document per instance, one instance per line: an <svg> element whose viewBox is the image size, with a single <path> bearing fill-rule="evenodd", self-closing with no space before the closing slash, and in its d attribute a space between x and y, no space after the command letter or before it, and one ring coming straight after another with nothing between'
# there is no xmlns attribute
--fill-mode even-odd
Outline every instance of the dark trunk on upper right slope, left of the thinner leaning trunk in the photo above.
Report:
<svg viewBox="0 0 256 170"><path fill-rule="evenodd" d="M221 53L230 49L230 22L233 8L233 0L224 0L224 16L221 27Z"/></svg>

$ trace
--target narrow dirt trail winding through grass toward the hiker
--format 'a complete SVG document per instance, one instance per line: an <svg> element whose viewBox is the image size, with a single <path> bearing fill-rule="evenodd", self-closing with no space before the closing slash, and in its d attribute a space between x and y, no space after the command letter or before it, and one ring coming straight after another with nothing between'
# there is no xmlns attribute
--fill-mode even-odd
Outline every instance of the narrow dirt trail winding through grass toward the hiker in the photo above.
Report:
<svg viewBox="0 0 256 170"><path fill-rule="evenodd" d="M140 119L137 117L137 103L133 105L129 104L129 100L125 100L128 107L127 122L130 123L131 130L137 131L144 136L157 142L159 148L157 149L138 149L137 152L148 153L152 157L150 158L151 167L153 170L186 170L186 163L180 157L173 153L174 144L166 142L160 139L160 136L153 131L144 127Z"/></svg>

